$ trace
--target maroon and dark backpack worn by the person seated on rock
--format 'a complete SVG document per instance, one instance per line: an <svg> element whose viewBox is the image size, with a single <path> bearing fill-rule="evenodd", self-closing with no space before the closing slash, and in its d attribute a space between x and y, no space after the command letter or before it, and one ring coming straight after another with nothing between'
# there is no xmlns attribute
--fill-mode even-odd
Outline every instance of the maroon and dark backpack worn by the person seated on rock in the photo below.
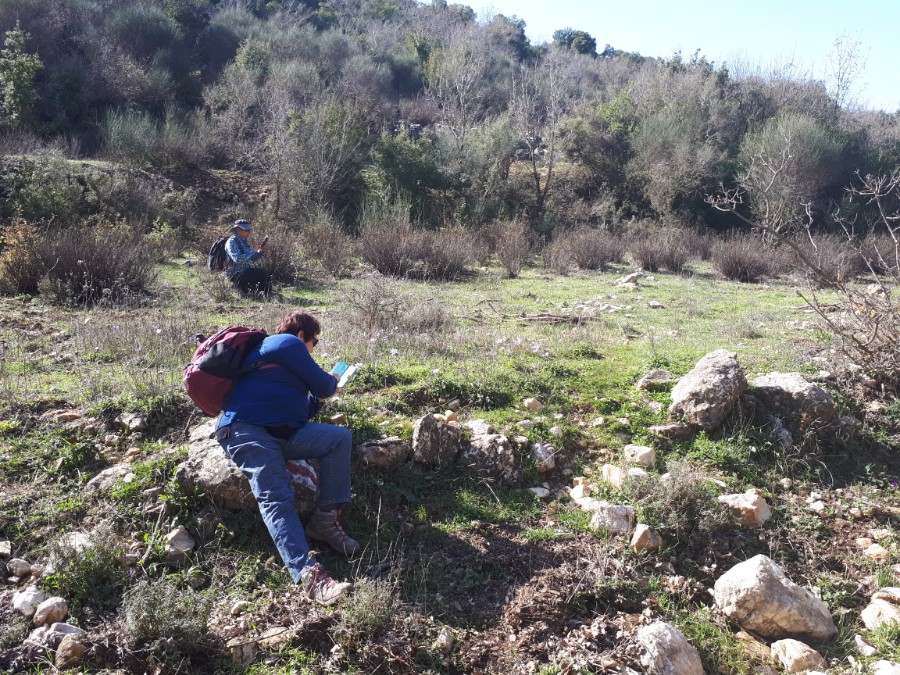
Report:
<svg viewBox="0 0 900 675"><path fill-rule="evenodd" d="M182 374L185 391L200 410L213 417L222 412L237 379L254 369L242 368L244 357L267 336L264 330L229 326L203 340Z"/></svg>

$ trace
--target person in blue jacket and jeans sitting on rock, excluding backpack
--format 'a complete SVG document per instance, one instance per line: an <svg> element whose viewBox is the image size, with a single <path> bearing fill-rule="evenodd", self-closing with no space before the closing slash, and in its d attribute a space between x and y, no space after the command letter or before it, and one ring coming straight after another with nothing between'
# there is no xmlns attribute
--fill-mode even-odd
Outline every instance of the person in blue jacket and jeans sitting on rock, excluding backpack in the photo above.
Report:
<svg viewBox="0 0 900 675"><path fill-rule="evenodd" d="M251 349L247 373L234 387L216 426L216 439L250 482L263 521L295 583L319 604L330 605L350 583L332 579L316 562L308 539L352 556L360 549L341 524L341 506L350 501L352 434L346 427L309 419L319 399L337 391L338 378L313 360L318 319L292 311L275 335ZM306 525L294 506L285 462L318 459L319 506Z"/></svg>

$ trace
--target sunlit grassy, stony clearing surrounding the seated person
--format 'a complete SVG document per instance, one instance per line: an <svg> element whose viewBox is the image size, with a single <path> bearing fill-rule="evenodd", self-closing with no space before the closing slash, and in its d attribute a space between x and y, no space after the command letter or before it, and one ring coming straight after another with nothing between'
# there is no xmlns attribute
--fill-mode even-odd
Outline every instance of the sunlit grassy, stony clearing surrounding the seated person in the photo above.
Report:
<svg viewBox="0 0 900 675"><path fill-rule="evenodd" d="M293 641L257 659L245 671L252 673L326 667L521 672L529 662L534 672L561 672L564 664L554 655L561 636L574 635L572 626L625 621L647 608L678 624L710 671L747 673L760 664L715 615L702 588L713 583L714 570L758 552L783 564L798 583L819 588L832 611L849 613L847 630L859 630L865 594L855 581L872 576L880 585L897 583L890 567L898 562L895 550L888 564L873 568L853 548L869 528L894 536L900 529L890 461L896 429L862 426L845 444L803 454L778 449L767 430L740 420L690 442L659 443L647 428L665 421L669 393L635 389L647 370L681 375L705 353L724 348L737 352L748 376L811 373L826 363L811 357L827 357L831 346L787 285L722 282L699 265L689 274L645 276L637 290L625 291L616 280L626 271L561 277L526 269L510 280L488 268L433 284L357 270L350 278L302 283L255 302L214 297L205 269L179 262L163 267L155 300L133 306L72 311L2 299L0 530L21 555L40 558L60 531L108 520L125 548L140 554L136 567L105 568L88 557L52 582L76 598L88 628L114 620L124 597L132 599L130 607L150 603L154 585L128 594L138 578L168 584L159 586L166 593L154 611L177 604L173 588L197 590L194 605L179 605L173 618L190 631L197 630L192 607L210 611L211 625L231 626L228 611L237 599L250 602L245 630L306 617ZM406 465L389 475L357 469L345 515L366 550L356 561L326 555L325 562L341 576L363 579L386 566L388 577L364 581L352 609L317 614L302 605L258 514L217 509L201 495L183 494L173 478L185 456L185 433L200 421L180 392L194 335L228 324L271 329L296 307L322 319L316 357L323 365L338 359L366 364L327 407L328 414L347 417L357 442L390 434L408 439L419 416L452 407L463 420L482 418L509 435L553 444L559 472L542 478L522 456L525 483L498 487L456 467L425 472ZM531 396L543 410L522 406ZM844 412L859 414L851 396L839 401ZM53 415L70 407L85 411L95 428L56 422ZM146 430L116 430L122 412L142 416ZM893 408L886 412L892 419ZM111 433L119 437L113 446L103 442ZM617 463L629 442L656 447L653 476L682 471L695 478L668 491L648 483L598 495L634 503L641 518L660 529L666 546L650 556L631 554L617 538L594 537L590 515L556 497L572 476L596 479L600 464ZM104 498L86 495L84 483L122 461L128 447L139 449L132 475ZM786 477L794 481L790 490L781 483ZM544 483L554 495L547 501L523 489ZM775 512L763 536L713 515L720 492L751 486L764 490ZM808 509L804 498L812 492L829 495L825 516ZM851 509L864 515L851 517ZM183 565L167 561L162 550L162 535L176 524L200 543ZM687 589L670 587L676 576L688 580ZM86 590L91 583L108 591L96 602ZM149 650L153 663L167 663L165 636L132 614L132 639ZM458 640L449 655L431 646L443 627ZM610 634L620 629L627 626L611 627ZM892 634L867 637L882 654L896 653ZM335 643L343 660L331 654ZM186 643L173 647L197 672L240 672L224 651L206 648L218 654L215 664ZM608 648L616 649L613 643ZM828 656L839 668L852 649L839 641ZM631 658L619 657L622 663Z"/></svg>

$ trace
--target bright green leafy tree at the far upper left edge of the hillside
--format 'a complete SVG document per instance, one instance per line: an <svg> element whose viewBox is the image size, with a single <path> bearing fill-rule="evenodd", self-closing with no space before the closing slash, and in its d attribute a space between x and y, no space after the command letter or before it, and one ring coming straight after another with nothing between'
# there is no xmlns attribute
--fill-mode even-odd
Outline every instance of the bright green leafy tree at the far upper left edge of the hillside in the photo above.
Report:
<svg viewBox="0 0 900 675"><path fill-rule="evenodd" d="M44 67L37 54L28 54L25 43L31 36L16 27L6 31L0 50L0 111L3 121L12 126L27 126L34 106L34 78Z"/></svg>

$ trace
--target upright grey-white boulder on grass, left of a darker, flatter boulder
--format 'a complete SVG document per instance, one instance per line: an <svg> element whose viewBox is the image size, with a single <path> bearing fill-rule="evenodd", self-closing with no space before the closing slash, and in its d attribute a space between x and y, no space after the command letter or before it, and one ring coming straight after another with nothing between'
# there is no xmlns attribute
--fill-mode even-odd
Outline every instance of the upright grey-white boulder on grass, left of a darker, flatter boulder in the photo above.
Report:
<svg viewBox="0 0 900 675"><path fill-rule="evenodd" d="M669 413L706 429L718 427L747 389L747 377L737 354L725 349L710 352L672 389Z"/></svg>

